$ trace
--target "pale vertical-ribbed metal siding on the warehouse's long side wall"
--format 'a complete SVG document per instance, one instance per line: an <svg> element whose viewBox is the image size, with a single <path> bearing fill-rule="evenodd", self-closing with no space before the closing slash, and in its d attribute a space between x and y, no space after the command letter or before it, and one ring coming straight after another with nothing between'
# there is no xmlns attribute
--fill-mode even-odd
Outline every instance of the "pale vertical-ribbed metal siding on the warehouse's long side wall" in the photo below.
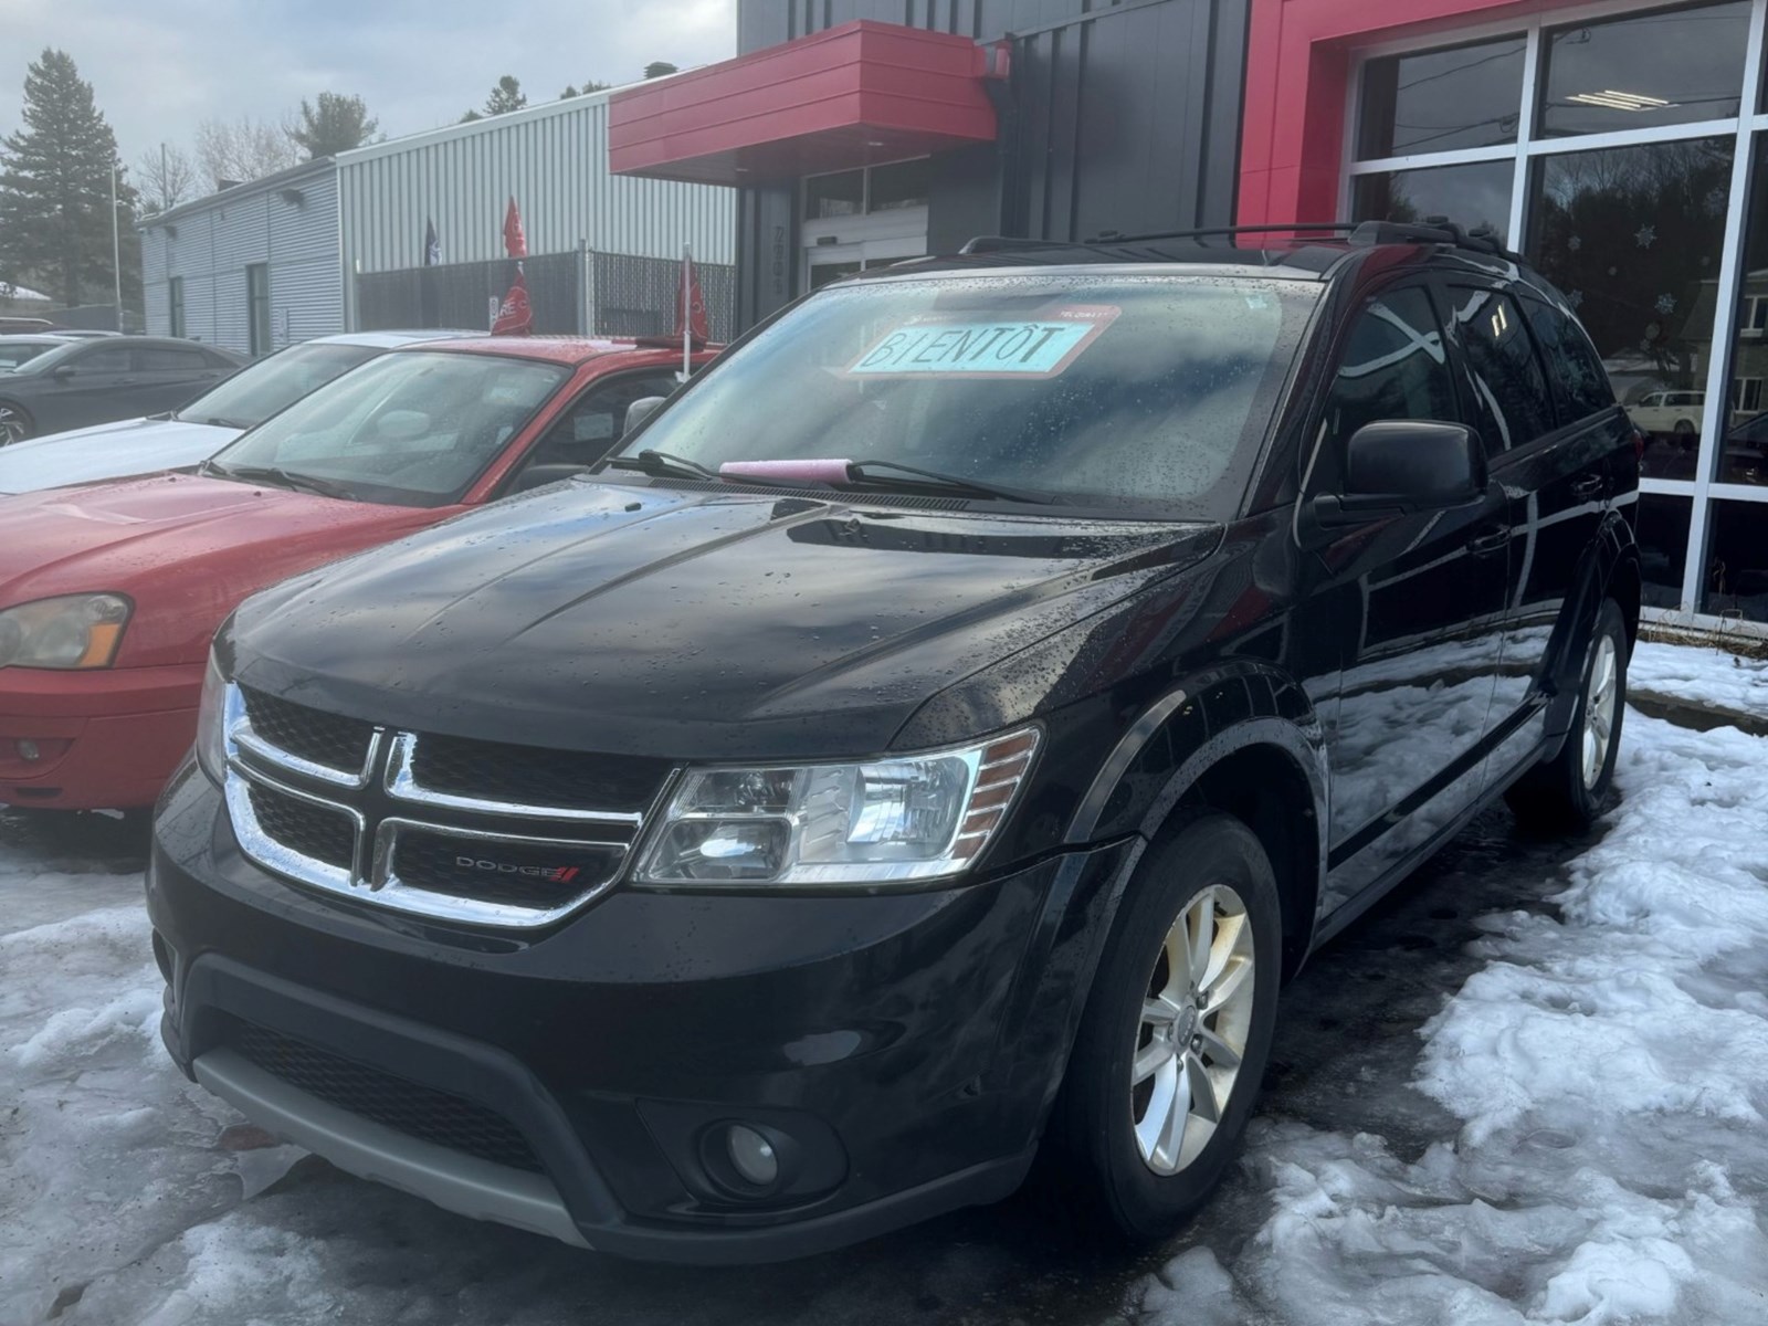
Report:
<svg viewBox="0 0 1768 1326"><path fill-rule="evenodd" d="M529 253L601 253L728 263L732 189L608 175L606 94L532 106L474 124L378 143L338 157L345 263L384 272L421 267L433 219L444 263L504 256L504 207L514 196Z"/></svg>

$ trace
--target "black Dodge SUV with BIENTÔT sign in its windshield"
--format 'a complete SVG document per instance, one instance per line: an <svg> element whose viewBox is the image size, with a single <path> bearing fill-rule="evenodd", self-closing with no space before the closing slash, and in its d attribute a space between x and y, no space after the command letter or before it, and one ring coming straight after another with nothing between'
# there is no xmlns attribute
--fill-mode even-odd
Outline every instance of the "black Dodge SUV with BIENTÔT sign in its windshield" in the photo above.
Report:
<svg viewBox="0 0 1768 1326"><path fill-rule="evenodd" d="M598 476L248 601L157 815L173 1059L635 1257L1040 1153L1174 1229L1312 949L1499 794L1595 813L1639 612L1566 302L1453 226L1310 233L866 272Z"/></svg>

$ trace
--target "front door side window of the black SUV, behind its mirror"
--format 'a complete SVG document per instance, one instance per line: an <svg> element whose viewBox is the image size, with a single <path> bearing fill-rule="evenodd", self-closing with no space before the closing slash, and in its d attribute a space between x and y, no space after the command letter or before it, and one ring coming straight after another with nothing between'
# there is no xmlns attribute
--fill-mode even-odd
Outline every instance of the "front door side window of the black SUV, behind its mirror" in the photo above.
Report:
<svg viewBox="0 0 1768 1326"><path fill-rule="evenodd" d="M1319 477L1337 479L1345 442L1363 424L1459 417L1430 297L1418 288L1388 292L1367 304L1345 338L1321 421Z"/></svg>

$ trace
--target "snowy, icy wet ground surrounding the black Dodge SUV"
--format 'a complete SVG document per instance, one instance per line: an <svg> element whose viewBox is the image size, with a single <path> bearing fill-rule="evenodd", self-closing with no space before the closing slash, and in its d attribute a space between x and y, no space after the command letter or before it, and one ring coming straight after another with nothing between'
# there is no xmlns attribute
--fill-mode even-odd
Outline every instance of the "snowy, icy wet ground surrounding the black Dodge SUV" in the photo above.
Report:
<svg viewBox="0 0 1768 1326"><path fill-rule="evenodd" d="M1163 1254L1025 1197L735 1271L272 1144L157 1047L140 845L0 819L0 1322L1768 1321L1768 739L1630 714L1619 783L1582 843L1487 813L1310 964L1245 1165Z"/></svg>

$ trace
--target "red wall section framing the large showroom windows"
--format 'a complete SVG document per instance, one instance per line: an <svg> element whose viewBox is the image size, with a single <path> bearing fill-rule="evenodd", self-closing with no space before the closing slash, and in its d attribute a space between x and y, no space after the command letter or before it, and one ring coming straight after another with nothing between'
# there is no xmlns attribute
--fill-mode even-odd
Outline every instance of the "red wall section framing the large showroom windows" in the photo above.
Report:
<svg viewBox="0 0 1768 1326"><path fill-rule="evenodd" d="M1337 221L1358 46L1528 21L1577 0L1252 0L1239 223Z"/></svg>

